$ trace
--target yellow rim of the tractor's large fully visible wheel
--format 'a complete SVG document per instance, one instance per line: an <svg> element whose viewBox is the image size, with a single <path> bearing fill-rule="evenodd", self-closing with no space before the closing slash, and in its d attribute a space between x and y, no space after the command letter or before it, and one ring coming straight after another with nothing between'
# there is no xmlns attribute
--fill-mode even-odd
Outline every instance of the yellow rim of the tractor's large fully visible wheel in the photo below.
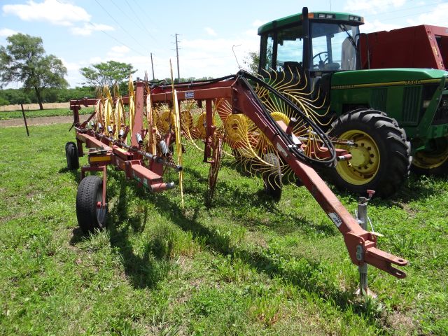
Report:
<svg viewBox="0 0 448 336"><path fill-rule="evenodd" d="M336 165L339 176L344 181L358 186L372 181L377 175L380 162L377 143L367 133L360 130L344 132L339 138L354 142L354 146L348 148L352 155L351 160L341 161ZM336 148L346 149L341 145Z"/></svg>

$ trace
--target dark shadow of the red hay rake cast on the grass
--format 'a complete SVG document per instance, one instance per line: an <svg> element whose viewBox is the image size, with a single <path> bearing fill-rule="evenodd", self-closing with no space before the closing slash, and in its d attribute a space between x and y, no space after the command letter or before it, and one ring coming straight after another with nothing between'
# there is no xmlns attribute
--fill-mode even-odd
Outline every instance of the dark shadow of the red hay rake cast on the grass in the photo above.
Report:
<svg viewBox="0 0 448 336"><path fill-rule="evenodd" d="M188 174L195 181L204 179L202 174L195 171L195 169L188 169ZM134 251L131 235L144 231L148 221L148 206L145 206L143 211L130 213L128 211L129 205L132 203L132 198L134 198L134 195L130 195L126 190L130 182L125 181L121 173L109 170L109 175L116 181L113 188L108 187L108 192L113 193L118 200L109 212L111 246L116 248L122 256L125 273L128 279L130 279L132 286L136 288L153 288L159 281L165 279L173 267L173 263L167 258L171 247L164 246L163 241L158 240L156 237L144 245L143 253L138 254ZM218 186L218 188L221 188L221 193L216 204L219 204L220 207L227 207L230 210L240 207L256 207L270 211L276 216L281 216L282 214L279 209L276 209L274 202L269 201L264 195L253 195L225 181L219 182ZM187 186L186 190L191 194L199 193L202 196L204 195L204 188L197 189L193 184ZM239 258L251 265L257 272L268 274L272 278L280 277L294 286L316 294L323 300L334 302L340 309L353 309L357 314L369 316L374 321L376 313L372 312L372 309L369 309L367 305L362 303L353 305L353 302L356 302L353 290L342 290L337 286L338 282L335 279L325 278L325 263L303 256L300 258L300 262L296 264L286 260L287 256L284 256L286 259L282 258L278 253L272 253L268 249L260 248L255 251L248 251L244 248L232 246L232 244L226 243L219 232L200 223L198 220L200 211L210 211L210 208L204 208L203 204L197 203L193 207L188 207L190 211L186 214L179 209L179 204L176 200L169 198L165 194L155 196L148 195L144 190L137 190L137 195L153 202L159 214L165 216L182 230L191 232L193 239L204 241L204 244L217 253L230 255L232 258ZM213 206L213 204L211 205ZM240 219L244 221L244 215ZM312 226L309 221L297 216L289 216L288 221L294 221L297 228L309 228ZM273 228L273 230L276 229ZM328 225L323 225L323 228L320 230L323 230L323 232L328 230L326 232L328 235L334 235L333 230L330 231L328 229ZM76 244L79 241L78 239L82 239L80 237L82 232L75 231L73 230L73 244Z"/></svg>

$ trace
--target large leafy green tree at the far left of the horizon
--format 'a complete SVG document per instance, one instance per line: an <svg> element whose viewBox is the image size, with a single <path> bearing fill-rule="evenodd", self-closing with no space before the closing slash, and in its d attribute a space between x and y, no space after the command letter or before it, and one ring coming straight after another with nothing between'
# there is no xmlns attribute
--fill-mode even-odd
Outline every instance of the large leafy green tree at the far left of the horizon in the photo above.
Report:
<svg viewBox="0 0 448 336"><path fill-rule="evenodd" d="M45 88L68 86L64 79L66 67L55 55L45 55L40 37L19 33L6 40L6 48L0 47L1 87L13 81L23 83L26 90L34 90L39 108L43 110L42 91Z"/></svg>

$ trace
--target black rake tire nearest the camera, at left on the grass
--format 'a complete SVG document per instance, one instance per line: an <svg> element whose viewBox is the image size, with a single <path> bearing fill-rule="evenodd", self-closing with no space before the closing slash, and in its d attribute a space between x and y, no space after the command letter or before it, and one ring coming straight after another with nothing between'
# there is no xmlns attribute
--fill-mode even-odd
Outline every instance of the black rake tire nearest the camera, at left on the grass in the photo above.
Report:
<svg viewBox="0 0 448 336"><path fill-rule="evenodd" d="M76 217L78 225L83 232L93 232L94 229L102 229L106 226L107 207L97 207L102 200L103 180L99 176L86 176L78 186L76 195Z"/></svg>

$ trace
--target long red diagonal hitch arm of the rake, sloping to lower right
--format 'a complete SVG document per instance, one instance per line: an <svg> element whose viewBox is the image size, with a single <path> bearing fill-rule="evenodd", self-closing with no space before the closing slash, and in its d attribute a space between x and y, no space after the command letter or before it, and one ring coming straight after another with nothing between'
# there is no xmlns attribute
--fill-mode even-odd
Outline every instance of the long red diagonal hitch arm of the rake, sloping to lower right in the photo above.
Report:
<svg viewBox="0 0 448 336"><path fill-rule="evenodd" d="M290 138L286 134L286 125L283 124L282 127L281 123L269 120L269 113L255 97L247 81L239 79L232 88L234 113L244 113L248 118L251 118L253 123L274 144L281 158L293 169L295 175L344 236L344 242L351 261L358 266L367 263L397 278L405 278L406 273L392 265L405 266L407 265L407 260L377 248L377 237L372 232L367 232L360 227L358 221L339 202L314 168L309 165L309 162L305 163L297 155L295 151L297 150L296 146L293 146L294 144L288 140ZM326 149L330 158L336 158L336 151L333 146L327 146ZM331 163L331 160L328 159L324 163Z"/></svg>

